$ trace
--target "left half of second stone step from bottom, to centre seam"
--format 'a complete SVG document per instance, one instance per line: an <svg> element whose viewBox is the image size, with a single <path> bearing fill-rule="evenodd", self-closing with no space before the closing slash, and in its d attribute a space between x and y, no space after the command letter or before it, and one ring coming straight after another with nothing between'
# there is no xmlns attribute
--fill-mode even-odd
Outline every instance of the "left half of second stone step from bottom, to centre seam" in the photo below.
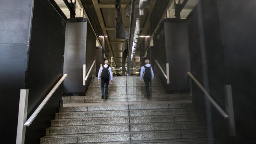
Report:
<svg viewBox="0 0 256 144"><path fill-rule="evenodd" d="M129 131L128 124L107 124L89 126L63 126L46 129L46 135L70 135L84 133L111 133Z"/></svg>

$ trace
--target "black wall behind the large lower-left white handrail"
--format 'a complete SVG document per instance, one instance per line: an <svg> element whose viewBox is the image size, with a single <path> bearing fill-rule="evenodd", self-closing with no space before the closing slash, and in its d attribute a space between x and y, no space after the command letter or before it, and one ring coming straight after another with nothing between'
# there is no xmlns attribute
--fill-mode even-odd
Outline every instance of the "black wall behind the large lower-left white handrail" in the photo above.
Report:
<svg viewBox="0 0 256 144"><path fill-rule="evenodd" d="M31 45L29 49L26 89L29 89L28 116L63 75L65 21L45 0L34 2ZM30 127L26 129L28 144L39 144L58 112L63 86L52 95ZM29 118L29 117L28 117Z"/></svg>

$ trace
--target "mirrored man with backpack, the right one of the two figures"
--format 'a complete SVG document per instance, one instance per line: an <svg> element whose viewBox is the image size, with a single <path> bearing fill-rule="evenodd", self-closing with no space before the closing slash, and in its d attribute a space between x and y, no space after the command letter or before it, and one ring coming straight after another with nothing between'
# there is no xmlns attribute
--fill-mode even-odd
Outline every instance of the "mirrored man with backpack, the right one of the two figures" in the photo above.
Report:
<svg viewBox="0 0 256 144"><path fill-rule="evenodd" d="M154 80L154 72L152 70L151 65L149 64L148 59L145 60L145 66L141 67L141 74L140 74L141 81L142 81L142 75L143 74L144 74L143 79L144 79L144 82L145 82L147 98L149 98L150 97L149 83L150 83L150 86L151 86L151 82L153 82L153 80Z"/></svg>

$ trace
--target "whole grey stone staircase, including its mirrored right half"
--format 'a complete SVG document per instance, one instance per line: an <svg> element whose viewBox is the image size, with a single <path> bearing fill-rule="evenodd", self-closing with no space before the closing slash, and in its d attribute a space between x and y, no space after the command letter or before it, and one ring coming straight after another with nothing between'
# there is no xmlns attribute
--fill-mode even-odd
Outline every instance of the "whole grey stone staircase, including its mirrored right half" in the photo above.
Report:
<svg viewBox="0 0 256 144"><path fill-rule="evenodd" d="M204 117L188 94L165 94L156 80L147 99L143 85L138 77L115 77L105 100L92 79L87 96L63 97L41 144L208 144Z"/></svg>

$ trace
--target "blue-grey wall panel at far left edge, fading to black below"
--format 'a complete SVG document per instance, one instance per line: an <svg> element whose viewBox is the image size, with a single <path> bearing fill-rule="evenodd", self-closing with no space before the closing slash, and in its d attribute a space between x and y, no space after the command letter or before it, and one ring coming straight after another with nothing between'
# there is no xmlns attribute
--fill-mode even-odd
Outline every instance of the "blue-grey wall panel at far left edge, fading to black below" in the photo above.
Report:
<svg viewBox="0 0 256 144"><path fill-rule="evenodd" d="M20 89L25 89L33 0L0 3L0 138L3 144L14 144Z"/></svg>

